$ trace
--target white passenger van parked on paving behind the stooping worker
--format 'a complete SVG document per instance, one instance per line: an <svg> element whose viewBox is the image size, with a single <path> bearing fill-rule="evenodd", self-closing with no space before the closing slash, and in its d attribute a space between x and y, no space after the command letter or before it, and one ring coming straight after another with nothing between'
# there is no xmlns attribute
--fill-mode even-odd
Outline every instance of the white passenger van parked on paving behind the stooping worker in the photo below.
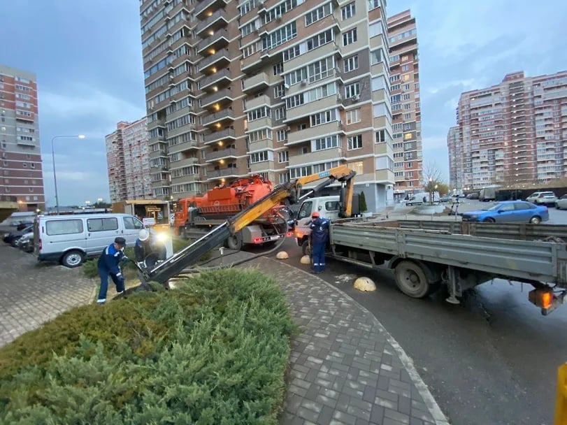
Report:
<svg viewBox="0 0 567 425"><path fill-rule="evenodd" d="M34 254L39 261L79 266L96 257L117 236L134 246L143 223L129 214L38 215L34 221Z"/></svg>

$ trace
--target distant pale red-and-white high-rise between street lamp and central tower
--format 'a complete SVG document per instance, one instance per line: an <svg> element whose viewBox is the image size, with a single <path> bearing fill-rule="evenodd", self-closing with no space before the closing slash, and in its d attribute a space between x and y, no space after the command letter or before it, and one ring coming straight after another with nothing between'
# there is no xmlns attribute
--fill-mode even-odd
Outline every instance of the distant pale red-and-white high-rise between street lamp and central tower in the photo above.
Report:
<svg viewBox="0 0 567 425"><path fill-rule="evenodd" d="M146 119L121 121L106 136L110 202L152 199Z"/></svg>

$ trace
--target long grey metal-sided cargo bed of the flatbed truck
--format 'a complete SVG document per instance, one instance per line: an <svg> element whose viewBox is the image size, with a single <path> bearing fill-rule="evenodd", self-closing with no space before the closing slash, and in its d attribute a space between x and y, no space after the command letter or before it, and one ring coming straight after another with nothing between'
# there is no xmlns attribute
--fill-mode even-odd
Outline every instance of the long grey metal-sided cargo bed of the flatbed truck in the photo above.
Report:
<svg viewBox="0 0 567 425"><path fill-rule="evenodd" d="M418 259L503 278L567 287L566 245L535 240L549 236L549 231L553 234L554 226L471 224L405 220L345 222L332 224L330 236L337 250L350 247L376 252L386 259ZM567 226L560 227L567 230ZM555 231L567 236L567 231Z"/></svg>

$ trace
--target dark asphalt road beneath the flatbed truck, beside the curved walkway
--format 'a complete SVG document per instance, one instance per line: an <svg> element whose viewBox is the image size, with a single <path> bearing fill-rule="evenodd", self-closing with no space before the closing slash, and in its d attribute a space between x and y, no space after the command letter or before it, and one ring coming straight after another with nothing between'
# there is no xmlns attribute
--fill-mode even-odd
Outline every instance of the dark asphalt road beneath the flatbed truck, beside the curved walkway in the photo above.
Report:
<svg viewBox="0 0 567 425"><path fill-rule="evenodd" d="M567 211L552 208L550 215L550 222L567 224ZM292 264L308 268L299 264L301 251L292 238L283 247ZM567 361L567 306L543 317L527 299L529 285L503 280L451 305L441 292L424 300L401 294L387 269L329 260L320 276L392 333L452 423L552 424L557 367ZM360 276L372 278L377 290L353 289Z"/></svg>

